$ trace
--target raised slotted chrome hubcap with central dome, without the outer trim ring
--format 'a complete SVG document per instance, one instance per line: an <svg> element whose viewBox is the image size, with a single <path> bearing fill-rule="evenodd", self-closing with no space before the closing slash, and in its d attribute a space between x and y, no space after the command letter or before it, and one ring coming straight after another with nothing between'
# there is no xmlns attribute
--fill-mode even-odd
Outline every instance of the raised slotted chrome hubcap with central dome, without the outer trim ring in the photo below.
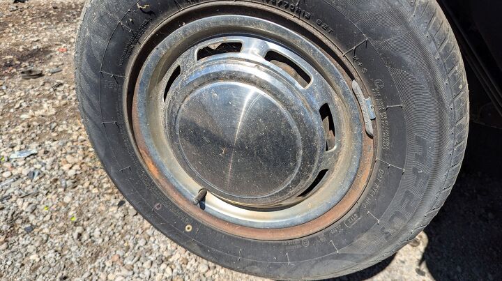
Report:
<svg viewBox="0 0 502 281"><path fill-rule="evenodd" d="M190 67L177 73L178 66ZM326 141L314 110L333 104L334 93L319 77L296 54L258 38L215 38L190 48L165 76L174 81L165 99L165 132L178 162L228 202L301 201L319 164L335 160L321 159Z"/></svg>

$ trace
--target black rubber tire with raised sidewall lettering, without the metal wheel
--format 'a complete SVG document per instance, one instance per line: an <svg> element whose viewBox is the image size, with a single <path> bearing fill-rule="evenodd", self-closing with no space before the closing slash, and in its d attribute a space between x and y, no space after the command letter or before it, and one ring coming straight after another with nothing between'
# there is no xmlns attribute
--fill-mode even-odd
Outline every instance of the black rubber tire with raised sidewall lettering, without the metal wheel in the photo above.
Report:
<svg viewBox="0 0 502 281"><path fill-rule="evenodd" d="M200 257L283 280L353 273L411 241L450 194L469 125L464 65L436 1L297 2L92 0L82 12L75 48L82 119L103 166L130 204ZM234 13L255 17L266 10L277 22L287 19L288 28L319 31L319 42L337 46L372 93L379 128L372 176L357 204L326 229L288 241L218 231L167 199L139 160L123 114L130 60L161 21L204 6L241 7ZM351 56L355 50L357 59ZM197 231L185 231L187 224Z"/></svg>

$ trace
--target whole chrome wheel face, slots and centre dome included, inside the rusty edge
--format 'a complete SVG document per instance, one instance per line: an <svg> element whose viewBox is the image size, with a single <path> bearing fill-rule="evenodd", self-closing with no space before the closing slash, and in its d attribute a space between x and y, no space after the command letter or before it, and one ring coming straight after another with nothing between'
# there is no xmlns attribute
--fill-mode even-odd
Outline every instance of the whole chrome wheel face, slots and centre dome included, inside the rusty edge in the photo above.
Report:
<svg viewBox="0 0 502 281"><path fill-rule="evenodd" d="M252 33L170 52L204 21L280 28L215 16L167 36L135 92L135 133L146 153L188 200L207 190L201 208L223 220L280 228L317 218L356 177L363 132L356 98L330 60L291 31L284 32L307 55Z"/></svg>

